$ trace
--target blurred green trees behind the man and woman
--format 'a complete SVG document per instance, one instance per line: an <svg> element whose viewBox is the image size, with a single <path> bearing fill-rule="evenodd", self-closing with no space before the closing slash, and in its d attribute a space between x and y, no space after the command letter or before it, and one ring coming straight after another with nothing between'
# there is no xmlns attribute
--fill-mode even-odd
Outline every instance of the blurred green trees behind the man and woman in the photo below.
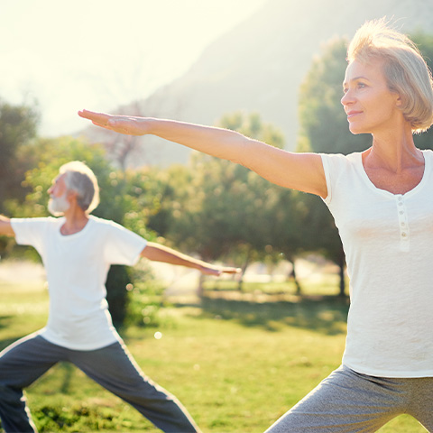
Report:
<svg viewBox="0 0 433 433"><path fill-rule="evenodd" d="M433 36L412 35L427 59L433 59ZM345 74L346 41L323 48L299 89L299 152L359 152L371 145L369 135L350 134L340 104ZM428 60L429 61L429 60ZM101 187L95 215L115 220L147 239L158 238L210 262L229 262L245 271L253 261L295 259L319 253L340 269L339 293L345 294L345 254L336 226L323 201L272 185L246 168L193 152L188 165L167 169L128 170L110 162L104 143L84 139L39 137L36 106L12 106L0 100L0 212L11 217L46 216L46 190L66 161L86 161ZM225 115L219 125L279 148L284 137L258 114ZM431 131L416 137L420 148L433 148ZM0 239L0 253L13 242ZM112 286L114 316L124 320L124 287L134 282L124 267L107 281ZM239 281L242 290L243 280ZM115 308L115 307L113 307Z"/></svg>

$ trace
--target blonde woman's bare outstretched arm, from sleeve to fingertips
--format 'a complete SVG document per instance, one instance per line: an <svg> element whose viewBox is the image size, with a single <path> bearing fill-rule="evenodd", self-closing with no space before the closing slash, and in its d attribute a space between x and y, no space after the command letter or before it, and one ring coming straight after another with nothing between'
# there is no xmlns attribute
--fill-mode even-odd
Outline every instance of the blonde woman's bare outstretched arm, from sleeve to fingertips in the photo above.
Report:
<svg viewBox="0 0 433 433"><path fill-rule="evenodd" d="M157 135L190 149L242 164L282 187L327 196L325 173L317 153L283 151L235 131L212 126L88 110L79 111L78 115L116 133Z"/></svg>

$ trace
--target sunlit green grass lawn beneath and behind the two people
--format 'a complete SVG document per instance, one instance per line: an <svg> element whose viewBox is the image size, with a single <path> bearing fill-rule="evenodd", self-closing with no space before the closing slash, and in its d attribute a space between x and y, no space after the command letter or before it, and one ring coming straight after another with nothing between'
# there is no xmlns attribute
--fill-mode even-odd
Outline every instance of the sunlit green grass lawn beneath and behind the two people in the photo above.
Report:
<svg viewBox="0 0 433 433"><path fill-rule="evenodd" d="M213 293L161 309L159 328L122 335L144 373L174 393L204 433L263 432L339 365L345 345L344 301L290 300ZM42 327L47 309L45 290L2 284L0 347ZM26 395L41 432L160 431L69 364ZM426 430L401 416L379 431Z"/></svg>

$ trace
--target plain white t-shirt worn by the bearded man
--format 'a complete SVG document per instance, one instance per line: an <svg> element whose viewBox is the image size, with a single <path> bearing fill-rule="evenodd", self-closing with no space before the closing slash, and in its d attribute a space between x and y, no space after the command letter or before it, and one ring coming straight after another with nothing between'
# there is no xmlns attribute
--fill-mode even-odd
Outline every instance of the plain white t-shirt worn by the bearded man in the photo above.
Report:
<svg viewBox="0 0 433 433"><path fill-rule="evenodd" d="M89 217L74 235L61 235L61 218L13 218L17 244L41 255L50 291L50 315L41 336L74 350L94 350L120 337L106 302L112 264L134 265L146 246L139 235L112 221Z"/></svg>

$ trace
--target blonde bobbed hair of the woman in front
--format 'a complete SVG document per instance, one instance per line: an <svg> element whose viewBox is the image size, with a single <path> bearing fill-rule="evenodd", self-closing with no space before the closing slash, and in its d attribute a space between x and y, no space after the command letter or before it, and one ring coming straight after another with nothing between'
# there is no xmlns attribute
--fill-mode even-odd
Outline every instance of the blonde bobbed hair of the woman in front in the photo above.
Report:
<svg viewBox="0 0 433 433"><path fill-rule="evenodd" d="M421 133L433 124L431 71L418 48L384 18L364 23L347 49L347 61L383 61L388 87L401 97L401 111L412 132Z"/></svg>

